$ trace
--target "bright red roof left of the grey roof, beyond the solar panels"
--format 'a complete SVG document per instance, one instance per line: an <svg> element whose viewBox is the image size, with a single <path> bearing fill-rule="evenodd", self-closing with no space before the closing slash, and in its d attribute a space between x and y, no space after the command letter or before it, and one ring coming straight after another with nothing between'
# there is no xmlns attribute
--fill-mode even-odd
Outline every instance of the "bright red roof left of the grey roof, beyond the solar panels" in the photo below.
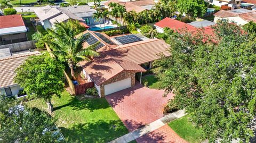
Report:
<svg viewBox="0 0 256 143"><path fill-rule="evenodd" d="M187 29L188 31L195 31L197 28L194 26L190 26L187 23L171 19L171 18L165 18L155 24L155 26L160 27L160 28L171 28L172 30L177 30L180 31L182 29Z"/></svg>

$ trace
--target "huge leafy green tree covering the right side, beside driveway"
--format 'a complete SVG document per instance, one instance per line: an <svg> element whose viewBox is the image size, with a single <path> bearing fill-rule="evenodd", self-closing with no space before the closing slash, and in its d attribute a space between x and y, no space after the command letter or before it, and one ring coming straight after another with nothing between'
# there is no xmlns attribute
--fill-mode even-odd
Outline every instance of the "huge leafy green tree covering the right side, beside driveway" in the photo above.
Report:
<svg viewBox="0 0 256 143"><path fill-rule="evenodd" d="M249 142L248 125L256 114L256 35L220 22L215 37L204 33L170 33L169 57L154 63L159 85L173 92L210 142Z"/></svg>

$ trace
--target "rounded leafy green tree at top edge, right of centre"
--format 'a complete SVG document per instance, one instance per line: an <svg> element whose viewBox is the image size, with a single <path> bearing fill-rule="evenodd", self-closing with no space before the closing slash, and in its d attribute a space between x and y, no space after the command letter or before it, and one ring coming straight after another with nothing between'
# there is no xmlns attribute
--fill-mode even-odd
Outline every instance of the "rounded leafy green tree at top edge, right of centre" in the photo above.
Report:
<svg viewBox="0 0 256 143"><path fill-rule="evenodd" d="M207 10L207 3L204 0L185 0L177 1L177 10L182 14L185 13L191 18L204 16Z"/></svg>

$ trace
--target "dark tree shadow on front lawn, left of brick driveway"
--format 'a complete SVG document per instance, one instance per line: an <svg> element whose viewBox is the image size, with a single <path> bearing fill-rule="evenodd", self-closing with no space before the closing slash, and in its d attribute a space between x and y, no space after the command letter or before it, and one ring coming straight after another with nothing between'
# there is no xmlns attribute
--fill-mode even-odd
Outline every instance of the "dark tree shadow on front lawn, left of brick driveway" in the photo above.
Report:
<svg viewBox="0 0 256 143"><path fill-rule="evenodd" d="M93 110L105 109L110 107L107 100L104 98L79 100L77 99L76 96L72 96L71 99L69 99L69 103L58 106L58 107L54 107L53 111L57 111L67 106L73 107L73 110L76 110L76 111L89 110L90 112L92 112Z"/></svg>

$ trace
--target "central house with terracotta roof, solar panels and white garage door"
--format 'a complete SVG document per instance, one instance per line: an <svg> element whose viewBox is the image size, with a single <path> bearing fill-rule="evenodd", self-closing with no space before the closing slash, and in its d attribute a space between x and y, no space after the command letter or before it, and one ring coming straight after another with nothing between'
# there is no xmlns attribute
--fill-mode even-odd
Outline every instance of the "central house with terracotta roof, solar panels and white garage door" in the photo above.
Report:
<svg viewBox="0 0 256 143"><path fill-rule="evenodd" d="M100 41L96 47L100 53L92 61L82 61L83 73L88 82L93 81L99 96L104 97L135 85L141 81L141 73L151 68L151 63L163 53L170 56L163 39L148 39L140 35L122 35L109 37L103 33L87 30L90 35L85 46Z"/></svg>

